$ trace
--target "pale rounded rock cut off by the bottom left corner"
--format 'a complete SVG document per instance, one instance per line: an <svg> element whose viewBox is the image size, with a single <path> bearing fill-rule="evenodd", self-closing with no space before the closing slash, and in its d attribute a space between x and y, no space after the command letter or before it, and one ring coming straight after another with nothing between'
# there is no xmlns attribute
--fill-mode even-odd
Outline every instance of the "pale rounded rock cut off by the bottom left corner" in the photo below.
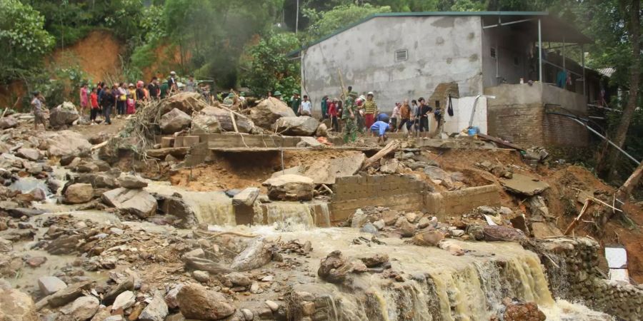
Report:
<svg viewBox="0 0 643 321"><path fill-rule="evenodd" d="M0 290L0 320L38 321L34 300L31 300L29 295L19 290Z"/></svg>

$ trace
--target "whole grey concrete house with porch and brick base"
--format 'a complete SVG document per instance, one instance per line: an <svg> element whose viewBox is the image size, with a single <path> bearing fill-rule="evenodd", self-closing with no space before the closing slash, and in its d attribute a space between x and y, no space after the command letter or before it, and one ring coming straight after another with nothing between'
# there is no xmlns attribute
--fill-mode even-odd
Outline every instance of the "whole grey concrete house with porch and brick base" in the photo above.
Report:
<svg viewBox="0 0 643 321"><path fill-rule="evenodd" d="M369 16L292 54L314 106L339 96L341 73L355 91L374 91L385 112L404 98L442 107L447 96L459 98L447 134L474 119L484 133L514 143L584 146L582 124L547 110L583 117L587 102L599 99L597 73L567 57L583 56L590 42L547 12L415 12ZM562 88L560 71L569 75Z"/></svg>

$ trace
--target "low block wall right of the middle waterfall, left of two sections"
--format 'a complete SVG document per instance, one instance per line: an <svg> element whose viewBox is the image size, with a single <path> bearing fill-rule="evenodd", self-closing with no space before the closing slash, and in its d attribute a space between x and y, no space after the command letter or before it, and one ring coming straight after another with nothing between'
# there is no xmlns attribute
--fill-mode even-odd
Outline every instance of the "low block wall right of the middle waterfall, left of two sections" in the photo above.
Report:
<svg viewBox="0 0 643 321"><path fill-rule="evenodd" d="M425 185L407 175L348 176L337 178L330 206L334 223L349 218L358 208L385 206L413 211L424 208Z"/></svg>

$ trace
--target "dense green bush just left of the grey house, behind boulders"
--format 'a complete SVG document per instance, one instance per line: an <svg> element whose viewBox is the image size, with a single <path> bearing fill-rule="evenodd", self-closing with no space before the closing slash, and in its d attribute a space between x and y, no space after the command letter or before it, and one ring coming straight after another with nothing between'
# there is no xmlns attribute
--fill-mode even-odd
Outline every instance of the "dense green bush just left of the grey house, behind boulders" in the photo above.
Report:
<svg viewBox="0 0 643 321"><path fill-rule="evenodd" d="M250 46L249 66L241 75L242 86L248 86L256 95L268 91L291 93L299 88L299 62L286 57L299 47L293 33L269 34L258 44Z"/></svg>

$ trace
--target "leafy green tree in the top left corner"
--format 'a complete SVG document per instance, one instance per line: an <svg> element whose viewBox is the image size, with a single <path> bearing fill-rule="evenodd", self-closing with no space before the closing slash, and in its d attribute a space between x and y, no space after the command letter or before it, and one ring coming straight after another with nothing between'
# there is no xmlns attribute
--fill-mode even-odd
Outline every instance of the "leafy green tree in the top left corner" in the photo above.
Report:
<svg viewBox="0 0 643 321"><path fill-rule="evenodd" d="M23 78L41 66L54 39L43 29L44 17L18 0L0 0L0 83Z"/></svg>

